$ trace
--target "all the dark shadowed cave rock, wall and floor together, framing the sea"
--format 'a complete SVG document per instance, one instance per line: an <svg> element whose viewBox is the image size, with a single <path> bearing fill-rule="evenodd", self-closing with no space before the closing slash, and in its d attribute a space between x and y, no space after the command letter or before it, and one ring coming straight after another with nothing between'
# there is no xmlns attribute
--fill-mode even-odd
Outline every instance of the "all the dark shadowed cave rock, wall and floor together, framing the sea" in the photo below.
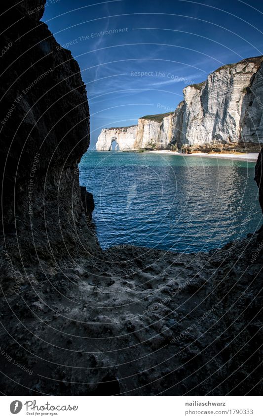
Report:
<svg viewBox="0 0 263 420"><path fill-rule="evenodd" d="M5 45L20 38L1 57L10 65L0 84L1 120L39 72L53 70L0 133L0 392L262 395L260 233L209 254L102 251L78 184L89 141L79 68L39 24L41 14L28 16L43 2L22 4L5 14ZM83 189L82 198L87 213L92 199Z"/></svg>

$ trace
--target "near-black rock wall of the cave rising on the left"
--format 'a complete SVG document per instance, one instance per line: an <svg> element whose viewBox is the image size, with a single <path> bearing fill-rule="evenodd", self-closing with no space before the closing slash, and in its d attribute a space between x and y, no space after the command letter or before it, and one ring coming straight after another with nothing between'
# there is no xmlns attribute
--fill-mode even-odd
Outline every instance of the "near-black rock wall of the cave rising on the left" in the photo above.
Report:
<svg viewBox="0 0 263 420"><path fill-rule="evenodd" d="M44 1L11 4L1 37L1 50L9 46L0 84L3 233L16 234L32 258L94 249L78 183L77 164L89 145L79 66L39 22ZM76 226L84 229L80 236Z"/></svg>

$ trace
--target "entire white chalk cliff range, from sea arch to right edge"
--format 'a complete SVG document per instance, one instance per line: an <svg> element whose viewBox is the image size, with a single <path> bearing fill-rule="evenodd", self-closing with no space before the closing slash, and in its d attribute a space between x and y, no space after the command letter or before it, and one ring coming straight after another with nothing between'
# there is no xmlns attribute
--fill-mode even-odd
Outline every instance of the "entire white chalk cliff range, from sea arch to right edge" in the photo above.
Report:
<svg viewBox="0 0 263 420"><path fill-rule="evenodd" d="M97 150L259 150L263 144L263 56L227 64L187 86L174 113L140 118L138 126L103 129Z"/></svg>

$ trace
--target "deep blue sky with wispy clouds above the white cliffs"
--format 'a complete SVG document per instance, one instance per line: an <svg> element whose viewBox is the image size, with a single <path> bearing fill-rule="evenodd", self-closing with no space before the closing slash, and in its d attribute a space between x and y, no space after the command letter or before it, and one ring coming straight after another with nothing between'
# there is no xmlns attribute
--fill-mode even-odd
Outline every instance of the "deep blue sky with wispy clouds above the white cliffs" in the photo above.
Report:
<svg viewBox="0 0 263 420"><path fill-rule="evenodd" d="M47 0L42 20L79 63L90 147L102 128L174 110L185 86L263 54L262 0Z"/></svg>

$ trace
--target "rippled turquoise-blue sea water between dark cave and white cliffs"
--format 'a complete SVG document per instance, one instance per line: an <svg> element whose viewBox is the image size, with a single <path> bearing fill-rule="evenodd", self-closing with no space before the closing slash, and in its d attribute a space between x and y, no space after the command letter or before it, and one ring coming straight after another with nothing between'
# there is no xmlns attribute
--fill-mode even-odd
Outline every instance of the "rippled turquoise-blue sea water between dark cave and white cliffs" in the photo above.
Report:
<svg viewBox="0 0 263 420"><path fill-rule="evenodd" d="M94 195L104 249L125 243L192 252L260 228L254 168L222 158L88 151L79 177Z"/></svg>

